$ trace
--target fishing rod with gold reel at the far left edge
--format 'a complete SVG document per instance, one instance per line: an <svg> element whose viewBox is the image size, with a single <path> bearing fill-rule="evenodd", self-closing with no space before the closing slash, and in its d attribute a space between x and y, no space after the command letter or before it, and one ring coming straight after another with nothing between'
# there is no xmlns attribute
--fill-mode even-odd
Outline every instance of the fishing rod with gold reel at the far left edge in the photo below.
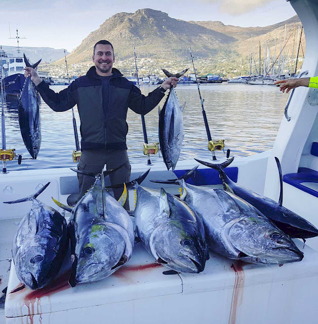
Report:
<svg viewBox="0 0 318 324"><path fill-rule="evenodd" d="M8 173L7 171L7 161L12 161L13 159L18 160L18 164L21 164L22 156L19 155L16 158L15 149L7 149L6 143L6 123L5 123L5 106L7 106L6 102L6 88L5 88L5 76L3 69L3 58L4 51L2 50L2 46L0 46L0 92L1 92L1 138L2 138L2 147L0 149L0 160L2 161L2 173Z"/></svg>

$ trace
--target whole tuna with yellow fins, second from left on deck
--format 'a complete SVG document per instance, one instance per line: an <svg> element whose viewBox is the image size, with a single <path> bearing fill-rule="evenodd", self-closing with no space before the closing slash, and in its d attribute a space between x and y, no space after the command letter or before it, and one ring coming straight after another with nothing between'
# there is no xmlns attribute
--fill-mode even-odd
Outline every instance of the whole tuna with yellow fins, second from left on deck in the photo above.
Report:
<svg viewBox="0 0 318 324"><path fill-rule="evenodd" d="M104 176L122 166L107 170ZM88 175L82 171L73 171ZM93 186L74 208L54 200L58 206L72 213L69 222L71 254L74 258L69 279L72 287L106 278L132 256L134 227L122 207L127 190L125 188L120 204L105 190L104 176L96 176Z"/></svg>

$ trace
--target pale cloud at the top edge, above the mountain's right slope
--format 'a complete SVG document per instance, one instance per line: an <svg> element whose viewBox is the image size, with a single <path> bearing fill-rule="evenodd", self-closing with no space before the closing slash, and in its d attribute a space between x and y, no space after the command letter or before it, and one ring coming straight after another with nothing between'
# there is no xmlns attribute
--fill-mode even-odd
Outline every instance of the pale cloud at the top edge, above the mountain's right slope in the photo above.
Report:
<svg viewBox="0 0 318 324"><path fill-rule="evenodd" d="M231 16L247 14L254 9L262 8L274 0L203 0L205 3L216 4L222 13Z"/></svg>

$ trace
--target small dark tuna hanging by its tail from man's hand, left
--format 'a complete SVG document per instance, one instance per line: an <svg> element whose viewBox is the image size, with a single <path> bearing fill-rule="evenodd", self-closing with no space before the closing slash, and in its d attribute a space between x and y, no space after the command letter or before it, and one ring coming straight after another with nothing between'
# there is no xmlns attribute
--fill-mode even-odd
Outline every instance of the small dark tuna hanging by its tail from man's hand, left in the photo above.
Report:
<svg viewBox="0 0 318 324"><path fill-rule="evenodd" d="M26 66L35 68L41 60L31 65L24 54L24 62ZM41 146L41 120L31 77L25 79L19 97L19 125L24 145L30 155L36 159Z"/></svg>

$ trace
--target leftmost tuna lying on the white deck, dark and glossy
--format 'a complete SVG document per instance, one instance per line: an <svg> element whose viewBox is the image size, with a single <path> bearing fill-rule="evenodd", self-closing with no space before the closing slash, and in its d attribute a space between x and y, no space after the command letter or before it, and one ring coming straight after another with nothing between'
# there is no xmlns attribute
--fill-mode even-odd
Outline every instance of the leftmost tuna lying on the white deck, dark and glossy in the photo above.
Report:
<svg viewBox="0 0 318 324"><path fill-rule="evenodd" d="M19 280L33 290L52 282L62 266L69 245L65 218L36 199L49 184L26 198L5 203L32 200L32 207L20 222L13 238L12 255Z"/></svg>

